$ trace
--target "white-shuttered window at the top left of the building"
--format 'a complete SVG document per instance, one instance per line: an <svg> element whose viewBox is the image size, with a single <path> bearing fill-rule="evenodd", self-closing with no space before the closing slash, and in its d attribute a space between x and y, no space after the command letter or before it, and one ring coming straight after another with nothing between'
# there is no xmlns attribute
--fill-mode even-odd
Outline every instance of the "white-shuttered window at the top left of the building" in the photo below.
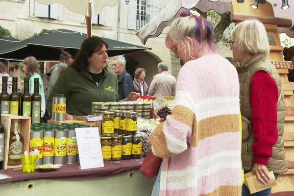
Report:
<svg viewBox="0 0 294 196"><path fill-rule="evenodd" d="M34 2L34 16L58 19L58 3L52 3L50 5L44 5L38 2Z"/></svg>

